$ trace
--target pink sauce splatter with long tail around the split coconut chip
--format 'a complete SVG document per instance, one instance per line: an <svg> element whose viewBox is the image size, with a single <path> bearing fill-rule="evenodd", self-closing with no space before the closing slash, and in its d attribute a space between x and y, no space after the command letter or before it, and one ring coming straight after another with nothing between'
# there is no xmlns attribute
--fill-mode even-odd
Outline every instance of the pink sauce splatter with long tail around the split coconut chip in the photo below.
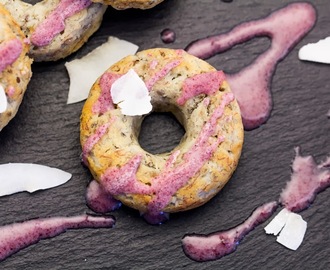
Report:
<svg viewBox="0 0 330 270"><path fill-rule="evenodd" d="M326 161L316 164L312 156L302 157L299 149L295 150L293 173L280 195L280 203L290 211L299 212L309 207L317 193L330 186L330 156ZM184 236L182 240L184 253L195 261L210 261L234 252L244 236L257 225L265 222L277 205L272 202L257 208L244 223L230 230L209 235Z"/></svg>

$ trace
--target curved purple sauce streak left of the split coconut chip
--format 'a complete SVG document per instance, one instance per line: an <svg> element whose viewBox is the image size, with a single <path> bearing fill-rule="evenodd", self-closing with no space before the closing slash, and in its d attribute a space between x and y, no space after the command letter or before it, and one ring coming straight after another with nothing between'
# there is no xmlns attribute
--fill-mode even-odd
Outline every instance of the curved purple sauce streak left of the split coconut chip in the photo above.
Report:
<svg viewBox="0 0 330 270"><path fill-rule="evenodd" d="M264 204L254 210L242 224L227 231L209 235L185 235L182 239L183 251L190 259L198 262L220 259L234 252L240 241L256 226L265 222L277 206L277 202Z"/></svg>

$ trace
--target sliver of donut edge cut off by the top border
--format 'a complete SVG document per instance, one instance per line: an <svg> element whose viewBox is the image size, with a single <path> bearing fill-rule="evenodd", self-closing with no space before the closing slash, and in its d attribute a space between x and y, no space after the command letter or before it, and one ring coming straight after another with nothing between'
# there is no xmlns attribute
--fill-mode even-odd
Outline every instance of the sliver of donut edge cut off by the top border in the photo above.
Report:
<svg viewBox="0 0 330 270"><path fill-rule="evenodd" d="M158 5L164 0L92 0L95 3L110 5L115 9L139 8L148 9Z"/></svg>

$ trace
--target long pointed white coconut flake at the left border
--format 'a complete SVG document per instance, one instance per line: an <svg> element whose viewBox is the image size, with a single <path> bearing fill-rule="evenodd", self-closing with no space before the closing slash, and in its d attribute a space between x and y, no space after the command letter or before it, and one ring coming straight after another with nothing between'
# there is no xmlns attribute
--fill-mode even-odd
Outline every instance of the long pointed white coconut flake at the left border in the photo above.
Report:
<svg viewBox="0 0 330 270"><path fill-rule="evenodd" d="M62 185L72 175L60 169L31 163L0 165L0 196L16 192L34 192Z"/></svg>

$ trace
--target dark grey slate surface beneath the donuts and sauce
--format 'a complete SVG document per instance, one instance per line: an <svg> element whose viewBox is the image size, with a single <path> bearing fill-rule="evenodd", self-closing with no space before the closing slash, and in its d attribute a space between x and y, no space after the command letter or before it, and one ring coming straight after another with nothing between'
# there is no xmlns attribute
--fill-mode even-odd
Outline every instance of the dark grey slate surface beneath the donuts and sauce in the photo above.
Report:
<svg viewBox="0 0 330 270"><path fill-rule="evenodd" d="M109 9L100 30L76 54L81 57L114 35L140 49L184 48L189 42L229 30L240 22L266 16L290 0L165 0L148 11ZM302 246L290 251L263 232L252 231L237 251L218 261L196 263L181 249L185 233L210 233L242 222L265 202L276 200L290 177L294 147L320 161L330 152L330 66L300 62L298 49L329 35L330 3L313 1L318 22L278 65L273 78L274 109L264 126L246 132L243 155L229 184L203 207L173 215L162 226L150 226L127 208L114 212L114 229L69 231L43 240L0 263L1 269L329 269L329 190L302 213L308 229ZM175 30L174 44L160 32ZM218 69L237 71L269 46L257 39L209 60ZM69 78L65 60L34 64L34 76L17 117L0 133L0 163L34 162L73 173L67 184L35 194L0 198L0 224L34 217L71 216L88 212L84 200L90 180L79 155L79 116L83 103L66 105ZM163 120L159 120L163 119ZM167 120L166 120L167 119ZM182 130L173 119L150 117L141 135L150 151L173 147ZM172 131L173 129L173 131ZM171 130L171 131L169 131Z"/></svg>

